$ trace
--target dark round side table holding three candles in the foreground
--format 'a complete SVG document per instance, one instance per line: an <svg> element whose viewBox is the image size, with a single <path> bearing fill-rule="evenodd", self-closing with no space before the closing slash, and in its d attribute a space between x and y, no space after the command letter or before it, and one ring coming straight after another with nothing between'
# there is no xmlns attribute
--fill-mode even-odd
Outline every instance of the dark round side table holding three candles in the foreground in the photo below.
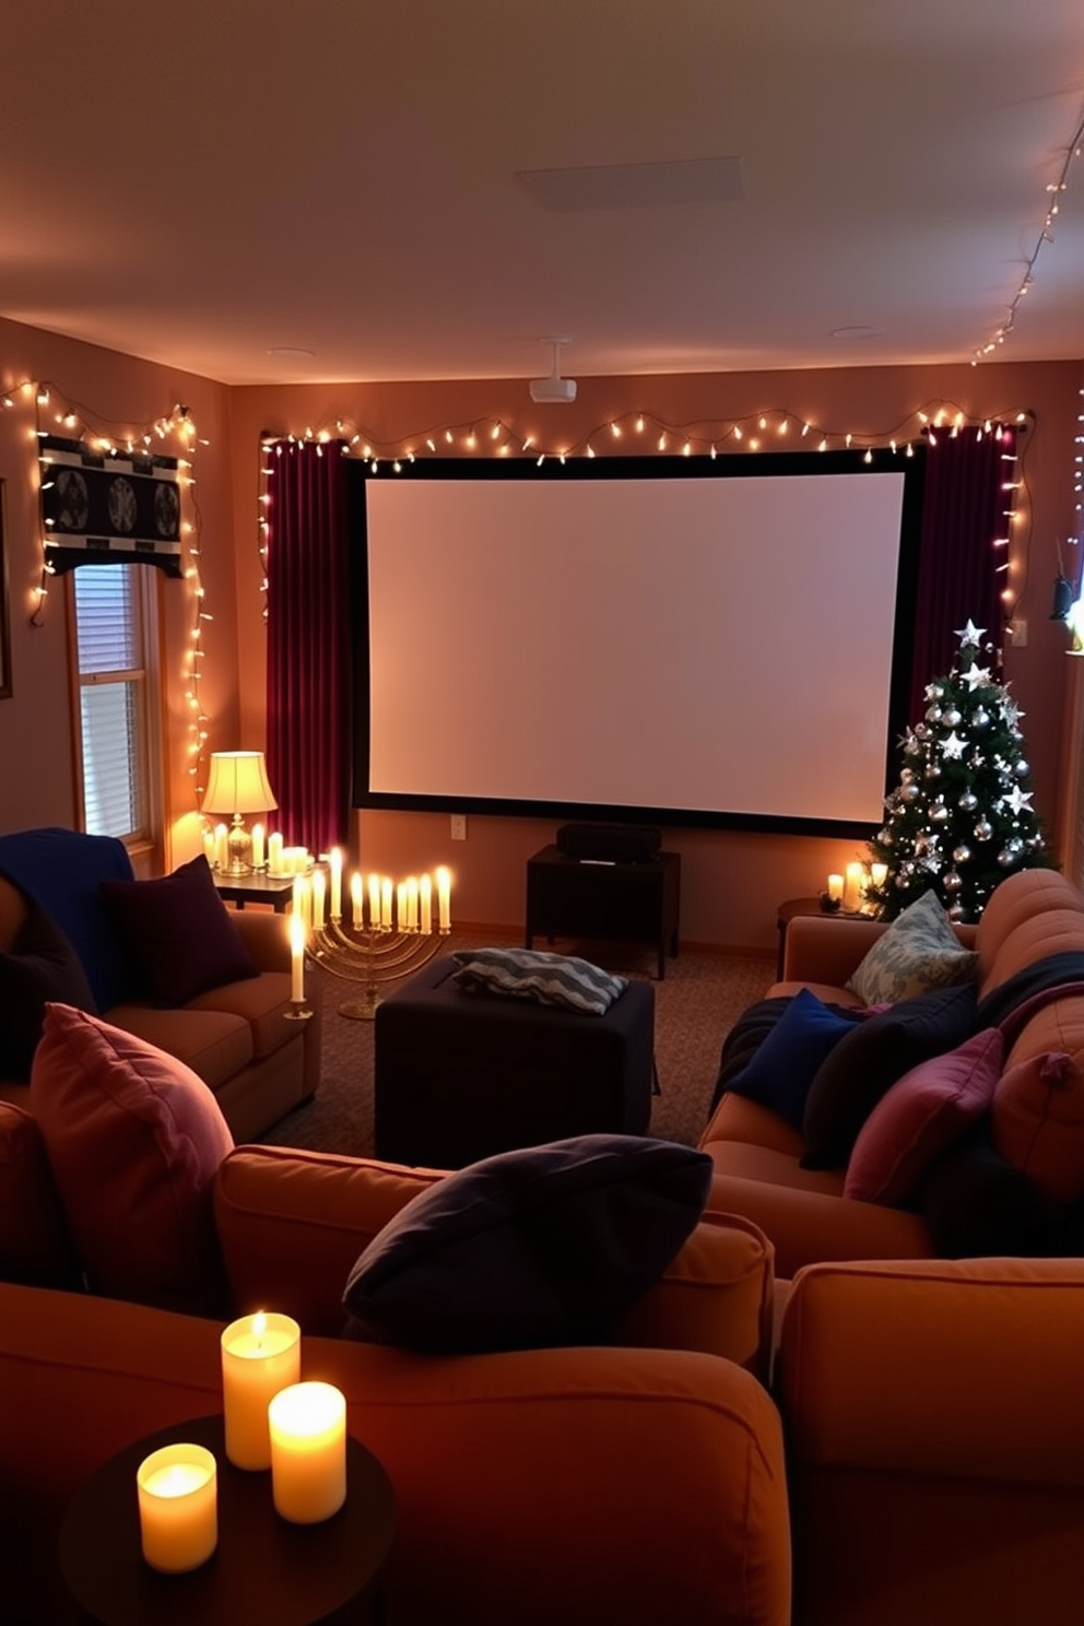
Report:
<svg viewBox="0 0 1084 1626"><path fill-rule="evenodd" d="M135 1473L159 1446L192 1441L218 1462L218 1548L163 1576L145 1561ZM101 1626L330 1626L382 1616L380 1576L395 1535L395 1493L380 1462L346 1439L346 1501L315 1525L280 1519L271 1473L226 1457L221 1416L163 1429L117 1452L76 1491L60 1530L60 1571Z"/></svg>

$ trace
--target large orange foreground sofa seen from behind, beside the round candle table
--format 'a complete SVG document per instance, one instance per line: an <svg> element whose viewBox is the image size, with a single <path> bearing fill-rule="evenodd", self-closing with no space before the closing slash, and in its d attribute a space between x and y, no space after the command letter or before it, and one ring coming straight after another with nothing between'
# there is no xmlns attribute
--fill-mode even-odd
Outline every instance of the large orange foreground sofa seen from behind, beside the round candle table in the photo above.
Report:
<svg viewBox="0 0 1084 1626"><path fill-rule="evenodd" d="M39 1223L41 1281L70 1270L70 1239L39 1135L0 1106L0 1233L20 1223L5 1189L26 1216L37 1182L57 1233L50 1257ZM68 1498L122 1446L221 1410L223 1320L268 1307L301 1322L302 1377L345 1392L351 1433L390 1475L395 1626L787 1626L764 1237L704 1220L605 1346L442 1356L340 1337L354 1259L440 1179L228 1153L210 1192L229 1281L218 1315L0 1285L0 1618L67 1626L55 1546Z"/></svg>

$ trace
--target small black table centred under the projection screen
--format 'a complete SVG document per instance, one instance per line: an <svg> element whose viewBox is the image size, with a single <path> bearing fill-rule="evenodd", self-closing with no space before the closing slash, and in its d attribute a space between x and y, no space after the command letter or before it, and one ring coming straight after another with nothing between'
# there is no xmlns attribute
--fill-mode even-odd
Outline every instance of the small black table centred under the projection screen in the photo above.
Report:
<svg viewBox="0 0 1084 1626"><path fill-rule="evenodd" d="M660 852L644 863L601 863L570 859L559 847L543 847L527 860L527 937L592 937L652 943L658 977L666 976L666 953L678 953L681 854Z"/></svg>

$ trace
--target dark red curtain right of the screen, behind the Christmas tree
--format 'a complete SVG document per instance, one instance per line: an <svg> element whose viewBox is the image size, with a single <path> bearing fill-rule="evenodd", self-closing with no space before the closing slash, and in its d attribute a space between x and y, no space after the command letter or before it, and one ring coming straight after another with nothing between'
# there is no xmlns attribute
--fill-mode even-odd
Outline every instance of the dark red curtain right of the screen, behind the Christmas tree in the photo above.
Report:
<svg viewBox="0 0 1084 1626"><path fill-rule="evenodd" d="M907 720L920 722L925 689L944 676L959 647L957 628L986 629L983 642L999 652L1004 637L1001 592L1009 550L995 548L1008 535L1012 507L1016 428L933 431L926 452L918 592L915 603L915 663Z"/></svg>

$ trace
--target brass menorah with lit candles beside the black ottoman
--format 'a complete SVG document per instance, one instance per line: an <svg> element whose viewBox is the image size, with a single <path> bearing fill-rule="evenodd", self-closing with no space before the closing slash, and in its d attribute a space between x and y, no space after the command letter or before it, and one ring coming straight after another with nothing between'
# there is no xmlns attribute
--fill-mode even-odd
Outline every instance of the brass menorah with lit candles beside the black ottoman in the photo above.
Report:
<svg viewBox="0 0 1084 1626"><path fill-rule="evenodd" d="M450 933L452 876L439 868L434 875L411 875L393 886L387 875L371 875L366 888L361 875L354 873L348 919L338 849L330 854L330 875L327 919L320 893L309 904L301 902L310 912L309 951L332 976L364 984L359 998L340 1005L340 1016L372 1021L380 989L424 966L440 946L440 938ZM294 907L297 902L296 898Z"/></svg>

